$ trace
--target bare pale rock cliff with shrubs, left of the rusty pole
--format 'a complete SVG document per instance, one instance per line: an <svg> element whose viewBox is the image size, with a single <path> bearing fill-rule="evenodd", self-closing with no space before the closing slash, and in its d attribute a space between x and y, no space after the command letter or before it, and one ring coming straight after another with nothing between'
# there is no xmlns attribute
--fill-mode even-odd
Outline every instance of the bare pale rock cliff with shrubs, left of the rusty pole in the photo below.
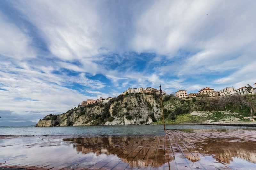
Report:
<svg viewBox="0 0 256 170"><path fill-rule="evenodd" d="M161 118L160 106L156 94L120 95L105 104L89 104L61 115L47 115L36 126L151 124Z"/></svg>

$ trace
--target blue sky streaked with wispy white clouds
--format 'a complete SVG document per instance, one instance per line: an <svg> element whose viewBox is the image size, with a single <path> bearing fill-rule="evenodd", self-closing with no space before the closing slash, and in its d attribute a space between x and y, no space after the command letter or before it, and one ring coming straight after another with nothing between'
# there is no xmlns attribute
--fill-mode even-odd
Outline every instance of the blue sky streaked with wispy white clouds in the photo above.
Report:
<svg viewBox="0 0 256 170"><path fill-rule="evenodd" d="M256 83L254 0L0 1L0 125L128 87Z"/></svg>

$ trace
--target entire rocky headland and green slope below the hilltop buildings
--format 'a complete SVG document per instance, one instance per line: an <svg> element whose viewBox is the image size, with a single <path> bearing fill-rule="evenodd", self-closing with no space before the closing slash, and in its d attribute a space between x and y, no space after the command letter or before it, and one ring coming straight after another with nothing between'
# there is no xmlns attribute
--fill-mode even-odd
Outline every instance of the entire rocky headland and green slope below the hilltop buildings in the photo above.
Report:
<svg viewBox="0 0 256 170"><path fill-rule="evenodd" d="M181 100L173 95L165 95L163 107L166 123L234 121L256 112L256 98L255 95L233 95ZM191 115L194 111L204 115ZM108 103L78 106L61 115L47 115L37 126L127 125L154 122L162 122L159 95L132 93L119 95Z"/></svg>

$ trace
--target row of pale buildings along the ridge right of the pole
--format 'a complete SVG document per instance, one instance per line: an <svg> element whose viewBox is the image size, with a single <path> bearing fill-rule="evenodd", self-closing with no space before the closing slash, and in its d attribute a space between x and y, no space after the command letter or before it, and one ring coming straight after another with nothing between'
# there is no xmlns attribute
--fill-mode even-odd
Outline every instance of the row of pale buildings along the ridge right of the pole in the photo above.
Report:
<svg viewBox="0 0 256 170"><path fill-rule="evenodd" d="M187 93L187 90L178 90L175 92L175 96L178 98L193 98L193 97L200 97L203 95L208 95L209 97L217 97L217 96L229 96L234 94L244 95L244 94L253 94L256 93L256 83L254 83L254 88L248 91L248 89L244 87L240 87L238 89L235 89L234 87L226 87L219 91L214 91L214 89L211 89L210 87L205 87L198 91L198 93Z"/></svg>

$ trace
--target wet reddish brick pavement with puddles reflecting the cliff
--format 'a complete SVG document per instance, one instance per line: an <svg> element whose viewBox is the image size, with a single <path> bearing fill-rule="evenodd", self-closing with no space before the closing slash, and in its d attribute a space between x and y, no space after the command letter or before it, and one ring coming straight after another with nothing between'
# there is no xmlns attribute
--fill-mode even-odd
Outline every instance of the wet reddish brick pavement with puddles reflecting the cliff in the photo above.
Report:
<svg viewBox="0 0 256 170"><path fill-rule="evenodd" d="M160 136L0 136L0 167L256 169L254 129L166 130Z"/></svg>

